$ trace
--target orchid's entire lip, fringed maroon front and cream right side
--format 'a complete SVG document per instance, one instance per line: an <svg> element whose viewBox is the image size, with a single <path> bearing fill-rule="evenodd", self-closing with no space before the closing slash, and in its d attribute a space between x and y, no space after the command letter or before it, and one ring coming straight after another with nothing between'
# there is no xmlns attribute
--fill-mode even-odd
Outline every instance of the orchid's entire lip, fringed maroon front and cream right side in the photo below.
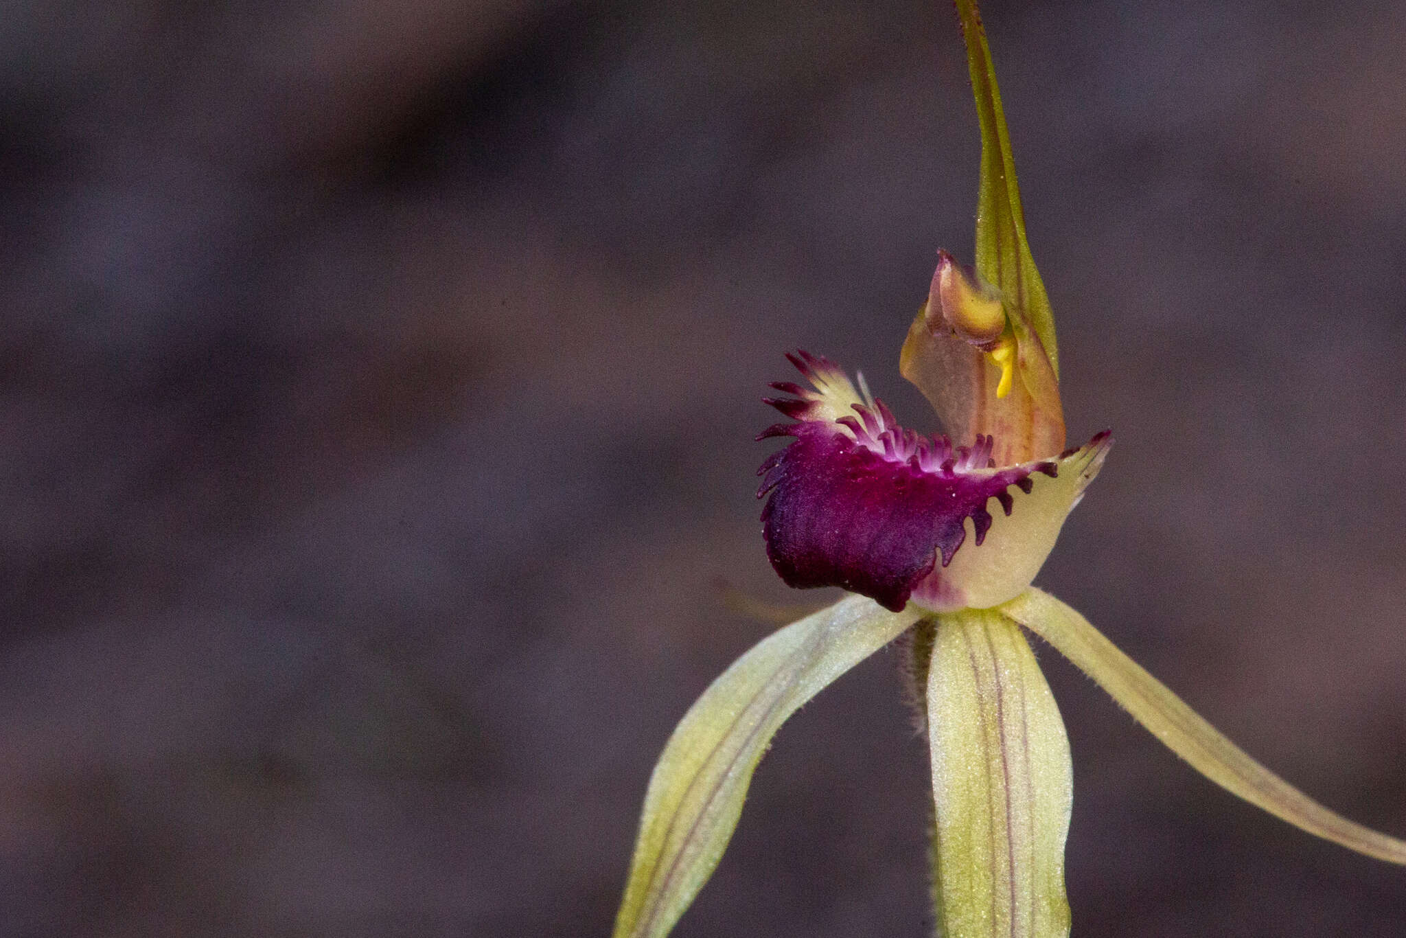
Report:
<svg viewBox="0 0 1406 938"><path fill-rule="evenodd" d="M768 402L796 422L762 437L796 439L762 464L758 492L766 554L790 586L842 586L894 610L1002 603L1039 572L1112 443L1099 433L1059 458L998 467L991 437L953 449L920 436L828 359L790 359L814 390L772 385L793 397Z"/></svg>

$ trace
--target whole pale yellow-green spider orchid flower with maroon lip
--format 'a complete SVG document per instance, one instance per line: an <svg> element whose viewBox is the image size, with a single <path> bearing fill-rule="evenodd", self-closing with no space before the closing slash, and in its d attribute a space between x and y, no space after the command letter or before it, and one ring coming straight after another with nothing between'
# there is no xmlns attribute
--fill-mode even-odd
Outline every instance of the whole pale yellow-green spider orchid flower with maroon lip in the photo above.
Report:
<svg viewBox="0 0 1406 938"><path fill-rule="evenodd" d="M1064 449L1054 319L1025 238L991 56L973 0L956 7L983 143L976 264L939 255L900 357L946 436L904 429L828 359L789 356L808 387L775 384L787 397L768 401L790 422L761 436L792 442L761 468L766 553L792 586L853 595L763 638L685 714L645 793L616 938L668 934L721 858L780 724L904 633L929 740L942 935L1070 930L1070 750L1024 630L1233 795L1406 863L1406 842L1289 786L1031 585L1112 437Z"/></svg>

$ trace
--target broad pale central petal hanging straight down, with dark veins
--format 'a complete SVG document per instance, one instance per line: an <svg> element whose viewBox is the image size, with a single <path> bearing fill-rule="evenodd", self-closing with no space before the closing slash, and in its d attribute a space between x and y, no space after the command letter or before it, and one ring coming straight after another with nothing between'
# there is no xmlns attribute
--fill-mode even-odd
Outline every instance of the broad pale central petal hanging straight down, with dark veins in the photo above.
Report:
<svg viewBox="0 0 1406 938"><path fill-rule="evenodd" d="M1019 626L938 616L928 668L934 904L948 938L1069 934L1069 738Z"/></svg>

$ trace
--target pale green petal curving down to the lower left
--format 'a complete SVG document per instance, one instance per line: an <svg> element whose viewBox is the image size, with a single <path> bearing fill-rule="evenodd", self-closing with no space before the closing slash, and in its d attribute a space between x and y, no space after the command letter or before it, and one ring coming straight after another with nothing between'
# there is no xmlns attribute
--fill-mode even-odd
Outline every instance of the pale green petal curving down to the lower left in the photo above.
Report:
<svg viewBox="0 0 1406 938"><path fill-rule="evenodd" d="M654 766L616 938L669 932L721 859L776 730L911 626L921 612L910 609L841 599L763 638L703 692Z"/></svg>

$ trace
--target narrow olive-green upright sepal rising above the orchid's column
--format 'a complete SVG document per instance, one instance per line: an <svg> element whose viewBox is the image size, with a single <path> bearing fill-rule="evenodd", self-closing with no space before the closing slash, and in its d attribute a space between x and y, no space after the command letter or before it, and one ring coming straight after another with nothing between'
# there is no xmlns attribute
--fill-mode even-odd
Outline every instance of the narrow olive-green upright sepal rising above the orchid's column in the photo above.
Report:
<svg viewBox="0 0 1406 938"><path fill-rule="evenodd" d="M995 84L991 51L974 0L956 0L962 35L966 39L972 93L981 122L981 186L976 205L976 271L997 285L1007 301L1029 319L1050 367L1059 377L1059 353L1054 349L1054 312L1040 271L1035 269L1031 246L1025 239L1025 211L1021 188L1015 181L1015 158L1011 135L1005 129L1001 90Z"/></svg>

